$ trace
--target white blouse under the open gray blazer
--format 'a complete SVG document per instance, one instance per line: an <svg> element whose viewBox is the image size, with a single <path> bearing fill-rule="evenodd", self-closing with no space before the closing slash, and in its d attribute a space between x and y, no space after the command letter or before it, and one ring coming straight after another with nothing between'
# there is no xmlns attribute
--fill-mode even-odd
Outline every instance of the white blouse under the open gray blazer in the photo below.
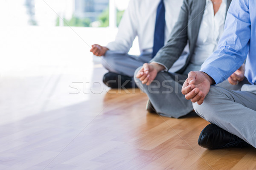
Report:
<svg viewBox="0 0 256 170"><path fill-rule="evenodd" d="M198 40L190 61L192 64L202 65L212 52L216 50L224 29L226 8L227 0L222 0L219 10L214 15L212 1L206 0Z"/></svg>

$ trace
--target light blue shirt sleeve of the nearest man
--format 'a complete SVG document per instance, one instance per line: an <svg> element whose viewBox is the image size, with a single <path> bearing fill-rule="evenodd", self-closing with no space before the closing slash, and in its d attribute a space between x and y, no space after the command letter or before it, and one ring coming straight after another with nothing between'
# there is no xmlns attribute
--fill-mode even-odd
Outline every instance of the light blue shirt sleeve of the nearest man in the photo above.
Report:
<svg viewBox="0 0 256 170"><path fill-rule="evenodd" d="M248 0L232 0L218 48L201 70L216 84L230 77L244 62L249 51L250 14Z"/></svg>

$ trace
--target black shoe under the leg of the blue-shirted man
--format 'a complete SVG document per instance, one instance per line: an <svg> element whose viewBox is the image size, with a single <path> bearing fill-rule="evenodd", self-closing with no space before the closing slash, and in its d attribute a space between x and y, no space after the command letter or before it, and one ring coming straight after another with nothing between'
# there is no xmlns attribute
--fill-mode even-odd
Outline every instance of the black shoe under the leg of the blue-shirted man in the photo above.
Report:
<svg viewBox="0 0 256 170"><path fill-rule="evenodd" d="M204 127L201 131L198 138L198 144L207 149L250 146L250 144L245 142L243 139L212 123Z"/></svg>

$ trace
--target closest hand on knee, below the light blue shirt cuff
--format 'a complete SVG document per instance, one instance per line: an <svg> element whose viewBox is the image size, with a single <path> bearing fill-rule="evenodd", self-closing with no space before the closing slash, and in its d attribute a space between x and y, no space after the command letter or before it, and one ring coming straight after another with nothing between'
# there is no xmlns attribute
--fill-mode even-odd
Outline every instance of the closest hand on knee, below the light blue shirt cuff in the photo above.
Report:
<svg viewBox="0 0 256 170"><path fill-rule="evenodd" d="M205 96L209 93L210 85L213 83L214 80L208 74L202 71L191 71L182 86L181 92L186 99L191 99L191 102L198 102L198 105L201 105Z"/></svg>

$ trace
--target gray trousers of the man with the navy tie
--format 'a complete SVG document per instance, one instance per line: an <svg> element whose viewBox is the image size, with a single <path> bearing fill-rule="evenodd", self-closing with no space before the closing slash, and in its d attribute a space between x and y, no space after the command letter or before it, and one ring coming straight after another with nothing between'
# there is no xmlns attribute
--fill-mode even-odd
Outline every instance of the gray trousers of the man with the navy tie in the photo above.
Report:
<svg viewBox="0 0 256 170"><path fill-rule="evenodd" d="M187 56L188 54L183 52L183 55L175 62L170 71L179 70L183 66L183 63L185 63ZM134 56L120 51L109 50L102 57L102 65L110 72L133 77L135 70L151 59L152 53L149 52L143 52L140 56Z"/></svg>

